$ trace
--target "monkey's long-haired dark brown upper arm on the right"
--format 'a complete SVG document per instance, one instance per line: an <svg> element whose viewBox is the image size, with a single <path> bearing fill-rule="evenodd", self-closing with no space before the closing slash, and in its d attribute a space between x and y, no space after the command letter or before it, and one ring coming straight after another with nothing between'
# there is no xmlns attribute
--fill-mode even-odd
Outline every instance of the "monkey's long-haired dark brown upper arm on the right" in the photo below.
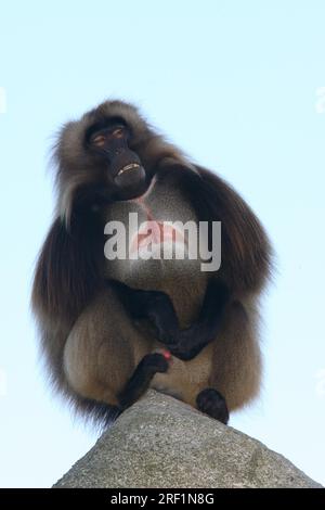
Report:
<svg viewBox="0 0 325 510"><path fill-rule="evenodd" d="M265 231L246 202L220 177L197 167L194 204L199 220L221 221L221 268L232 288L257 291L271 270Z"/></svg>

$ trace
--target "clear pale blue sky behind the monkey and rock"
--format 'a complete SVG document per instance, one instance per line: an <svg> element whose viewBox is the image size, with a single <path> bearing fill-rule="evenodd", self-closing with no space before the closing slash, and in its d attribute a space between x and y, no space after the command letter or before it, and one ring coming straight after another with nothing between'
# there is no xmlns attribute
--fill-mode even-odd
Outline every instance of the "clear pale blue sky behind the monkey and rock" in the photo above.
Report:
<svg viewBox="0 0 325 510"><path fill-rule="evenodd" d="M53 136L109 97L135 101L266 227L264 387L231 424L325 484L325 3L2 1L0 20L0 486L50 486L96 437L46 390L29 293Z"/></svg>

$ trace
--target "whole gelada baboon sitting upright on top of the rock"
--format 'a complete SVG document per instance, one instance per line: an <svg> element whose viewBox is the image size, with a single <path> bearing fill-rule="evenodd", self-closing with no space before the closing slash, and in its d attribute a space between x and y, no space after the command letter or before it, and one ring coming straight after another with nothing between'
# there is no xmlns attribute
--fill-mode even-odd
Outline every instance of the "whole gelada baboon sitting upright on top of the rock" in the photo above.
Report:
<svg viewBox="0 0 325 510"><path fill-rule="evenodd" d="M66 124L55 156L57 207L32 291L55 387L100 420L154 387L226 423L260 385L258 298L271 250L259 220L125 102ZM151 226L133 235L134 253L187 248L174 221L207 225L211 247L220 221L220 268L203 270L199 256L108 259L106 226L127 229L130 213Z"/></svg>

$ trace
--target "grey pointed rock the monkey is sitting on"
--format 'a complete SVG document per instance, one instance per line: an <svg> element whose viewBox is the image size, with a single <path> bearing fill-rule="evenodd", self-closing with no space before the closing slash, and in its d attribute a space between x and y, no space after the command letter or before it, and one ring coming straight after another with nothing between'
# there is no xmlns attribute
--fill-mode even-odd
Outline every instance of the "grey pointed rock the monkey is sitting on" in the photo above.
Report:
<svg viewBox="0 0 325 510"><path fill-rule="evenodd" d="M150 391L55 487L321 487L282 455Z"/></svg>

